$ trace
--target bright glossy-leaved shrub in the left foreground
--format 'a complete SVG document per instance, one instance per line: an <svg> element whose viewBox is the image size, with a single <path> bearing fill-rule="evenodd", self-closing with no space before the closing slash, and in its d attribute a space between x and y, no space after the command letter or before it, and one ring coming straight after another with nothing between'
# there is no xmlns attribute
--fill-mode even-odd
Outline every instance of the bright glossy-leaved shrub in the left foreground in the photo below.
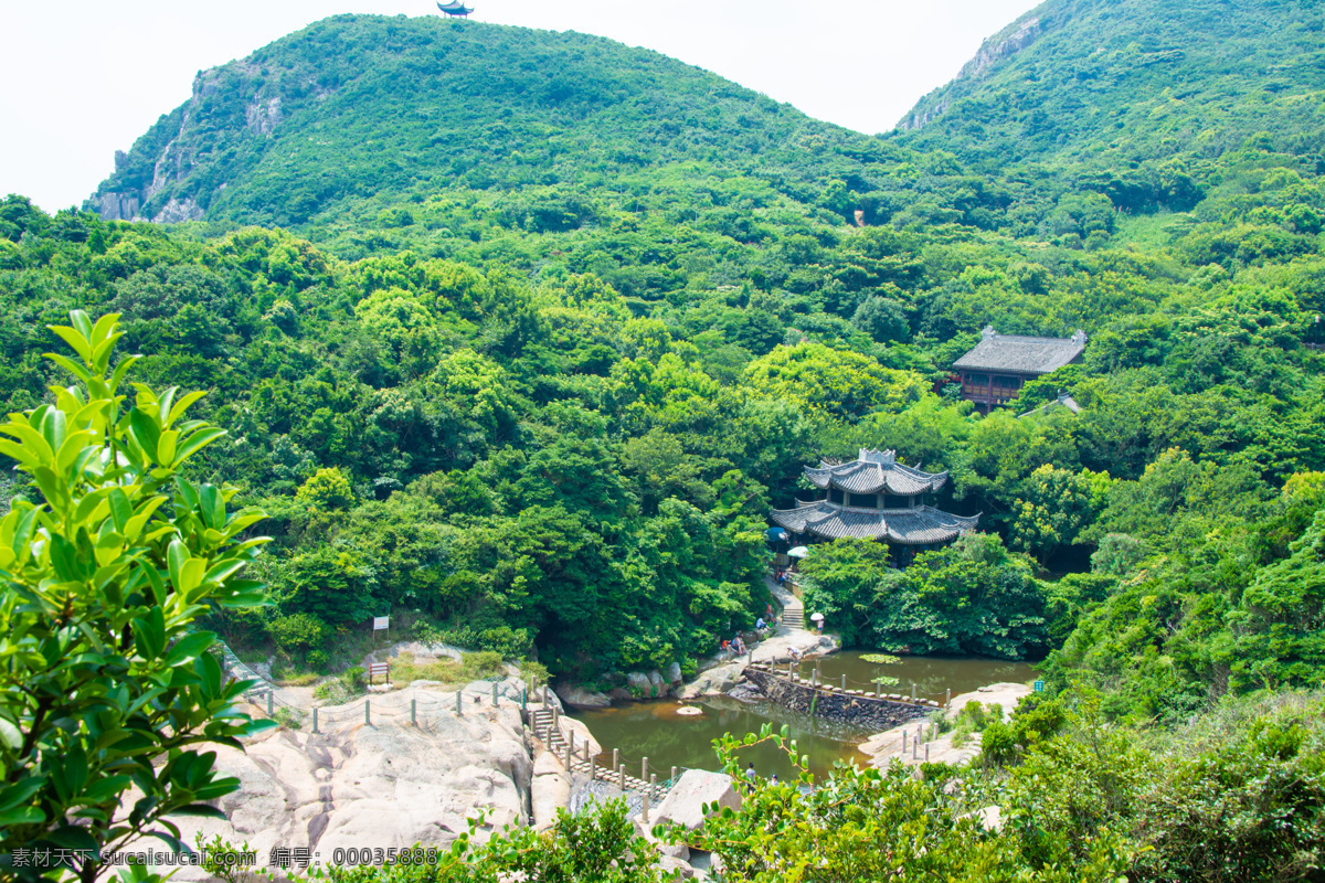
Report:
<svg viewBox="0 0 1325 883"><path fill-rule="evenodd" d="M52 356L73 385L0 424L33 482L0 518L0 868L91 883L103 851L144 834L179 849L168 817L220 817L238 780L200 748L272 725L235 707L246 684L197 627L264 602L241 576L265 539L249 536L262 512L180 475L225 434L184 418L203 393L135 384L126 404L135 357L111 360L114 316L70 315L50 331L77 356Z"/></svg>

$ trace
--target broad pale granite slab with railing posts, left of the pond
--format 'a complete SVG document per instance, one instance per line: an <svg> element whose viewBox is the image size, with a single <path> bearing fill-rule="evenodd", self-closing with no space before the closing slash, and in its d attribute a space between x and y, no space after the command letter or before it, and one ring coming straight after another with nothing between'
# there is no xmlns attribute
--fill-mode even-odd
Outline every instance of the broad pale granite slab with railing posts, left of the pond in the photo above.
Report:
<svg viewBox="0 0 1325 883"><path fill-rule="evenodd" d="M220 748L216 765L240 780L219 801L228 821L172 821L186 842L195 831L220 834L248 842L262 860L273 846L306 846L322 860L337 847L447 847L480 812L496 829L523 823L534 769L518 706L466 704L456 718L453 695L419 699L417 727L408 700L392 718L374 699L376 725L363 723L356 703L339 715L322 710L319 735L281 729L249 741L246 753ZM189 871L197 868L178 879L203 879Z"/></svg>

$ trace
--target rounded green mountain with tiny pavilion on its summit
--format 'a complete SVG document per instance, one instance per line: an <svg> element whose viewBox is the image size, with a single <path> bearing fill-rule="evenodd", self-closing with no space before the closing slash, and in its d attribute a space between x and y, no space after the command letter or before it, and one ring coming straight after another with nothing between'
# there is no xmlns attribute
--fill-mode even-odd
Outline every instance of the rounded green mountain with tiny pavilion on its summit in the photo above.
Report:
<svg viewBox="0 0 1325 883"><path fill-rule="evenodd" d="M338 16L199 74L121 156L106 218L303 225L346 200L543 192L521 221L578 226L586 193L705 163L784 189L861 168L863 139L643 49L437 17ZM802 195L804 197L804 195Z"/></svg>

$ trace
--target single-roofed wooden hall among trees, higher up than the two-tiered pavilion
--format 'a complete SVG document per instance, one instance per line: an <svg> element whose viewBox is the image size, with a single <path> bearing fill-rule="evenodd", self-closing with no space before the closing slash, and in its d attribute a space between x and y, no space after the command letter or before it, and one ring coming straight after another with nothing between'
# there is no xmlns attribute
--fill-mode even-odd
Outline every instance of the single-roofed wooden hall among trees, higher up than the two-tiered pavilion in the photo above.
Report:
<svg viewBox="0 0 1325 883"><path fill-rule="evenodd" d="M1080 364L1085 352L1084 331L1071 338L1022 338L986 326L980 334L983 339L953 363L953 371L962 376L962 398L984 414L1020 396L1027 380Z"/></svg>

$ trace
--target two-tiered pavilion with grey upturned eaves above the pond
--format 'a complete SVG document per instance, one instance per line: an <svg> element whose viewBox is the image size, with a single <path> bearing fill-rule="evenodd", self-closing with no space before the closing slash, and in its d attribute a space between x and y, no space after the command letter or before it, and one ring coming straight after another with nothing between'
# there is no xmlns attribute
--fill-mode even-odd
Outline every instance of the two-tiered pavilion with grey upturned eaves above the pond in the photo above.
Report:
<svg viewBox="0 0 1325 883"><path fill-rule="evenodd" d="M799 541L836 540L855 536L885 540L902 547L906 563L916 552L955 540L975 530L979 516L950 515L925 503L947 483L947 473L925 473L897 462L894 450L865 450L847 463L824 461L806 467L806 478L822 491L812 502L796 500L796 508L772 510L780 524Z"/></svg>

